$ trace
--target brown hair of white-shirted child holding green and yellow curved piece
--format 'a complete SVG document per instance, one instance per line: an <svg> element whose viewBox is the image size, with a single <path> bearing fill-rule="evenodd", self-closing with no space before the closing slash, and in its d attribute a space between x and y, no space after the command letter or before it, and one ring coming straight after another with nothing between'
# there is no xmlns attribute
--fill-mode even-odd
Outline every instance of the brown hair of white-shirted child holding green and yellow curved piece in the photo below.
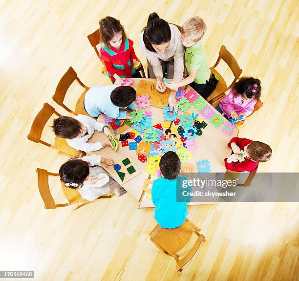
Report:
<svg viewBox="0 0 299 281"><path fill-rule="evenodd" d="M80 121L68 116L60 116L54 119L51 126L55 135L61 138L72 139L77 137L82 132Z"/></svg>

